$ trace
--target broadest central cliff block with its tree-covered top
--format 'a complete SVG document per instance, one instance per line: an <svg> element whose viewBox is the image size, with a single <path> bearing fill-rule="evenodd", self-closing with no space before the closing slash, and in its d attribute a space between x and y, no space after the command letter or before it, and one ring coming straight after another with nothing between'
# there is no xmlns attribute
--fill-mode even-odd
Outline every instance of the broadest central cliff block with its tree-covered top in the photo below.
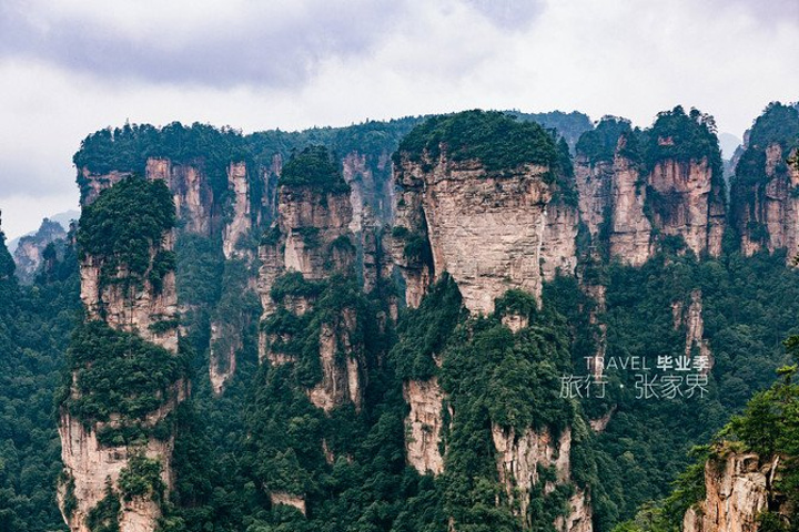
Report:
<svg viewBox="0 0 799 532"><path fill-rule="evenodd" d="M535 124L472 113L423 124L395 155L394 257L409 306L444 272L469 310L489 314L508 289L540 296L542 260L547 275L574 269L574 209L558 204L547 212L560 164L554 141ZM468 130L473 121L489 125ZM492 127L499 135L506 126L518 129L519 151L497 158ZM462 129L475 134L468 145L458 144Z"/></svg>

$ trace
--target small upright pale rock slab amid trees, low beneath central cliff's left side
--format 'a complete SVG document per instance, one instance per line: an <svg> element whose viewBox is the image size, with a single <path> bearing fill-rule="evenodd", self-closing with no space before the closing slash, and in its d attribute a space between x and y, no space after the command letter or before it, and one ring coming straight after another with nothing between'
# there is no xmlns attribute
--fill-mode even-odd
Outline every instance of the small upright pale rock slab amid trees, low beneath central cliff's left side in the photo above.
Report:
<svg viewBox="0 0 799 532"><path fill-rule="evenodd" d="M405 418L405 457L422 474L444 472L441 451L444 392L436 377L411 380L403 386L403 397L411 407Z"/></svg>

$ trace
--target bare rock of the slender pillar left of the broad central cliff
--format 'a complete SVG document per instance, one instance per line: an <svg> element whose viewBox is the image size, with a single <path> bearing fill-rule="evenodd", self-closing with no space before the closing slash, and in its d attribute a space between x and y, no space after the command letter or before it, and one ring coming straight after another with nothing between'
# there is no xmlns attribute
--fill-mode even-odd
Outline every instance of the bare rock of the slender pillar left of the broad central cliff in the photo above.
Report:
<svg viewBox="0 0 799 532"><path fill-rule="evenodd" d="M283 185L279 192L277 221L271 241L260 249L261 269L257 290L263 304L262 321L279 308L303 316L314 305L310 295L281 295L275 299L272 287L286 273L299 273L305 280L323 280L335 274L351 274L355 265L355 246L351 233L353 207L346 191L315 186ZM330 412L347 401L360 409L365 387L365 362L362 346L351 337L358 327L357 313L341 308L320 326L318 352L322 380L307 390L316 407ZM293 361L281 352L281 341L261 332L261 361L280 365ZM343 356L341 356L343 354Z"/></svg>

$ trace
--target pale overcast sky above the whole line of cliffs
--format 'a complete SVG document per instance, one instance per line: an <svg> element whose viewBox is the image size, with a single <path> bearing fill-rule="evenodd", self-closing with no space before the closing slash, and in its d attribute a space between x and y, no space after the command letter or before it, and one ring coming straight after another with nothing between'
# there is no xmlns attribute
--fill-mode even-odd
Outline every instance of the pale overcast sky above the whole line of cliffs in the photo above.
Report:
<svg viewBox="0 0 799 532"><path fill-rule="evenodd" d="M463 109L649 125L676 104L741 136L799 100L799 0L0 0L7 236L75 208L108 125L244 132Z"/></svg>

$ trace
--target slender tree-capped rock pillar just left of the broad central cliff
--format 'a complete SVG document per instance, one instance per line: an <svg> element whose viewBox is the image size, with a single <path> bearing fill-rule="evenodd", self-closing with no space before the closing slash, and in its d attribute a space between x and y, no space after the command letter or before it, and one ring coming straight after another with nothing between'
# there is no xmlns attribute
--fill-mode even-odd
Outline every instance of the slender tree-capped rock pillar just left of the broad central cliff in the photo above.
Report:
<svg viewBox="0 0 799 532"><path fill-rule="evenodd" d="M272 365L294 362L296 354L282 349L292 338L285 331L271 331L267 320L276 311L296 318L312 311L317 294L304 283L352 276L356 260L351 190L327 152L304 151L286 163L281 180L277 221L262 242L257 284L264 301L260 359ZM322 378L307 393L327 412L347 401L360 408L363 400L362 346L352 338L357 319L355 309L342 306L317 324Z"/></svg>

